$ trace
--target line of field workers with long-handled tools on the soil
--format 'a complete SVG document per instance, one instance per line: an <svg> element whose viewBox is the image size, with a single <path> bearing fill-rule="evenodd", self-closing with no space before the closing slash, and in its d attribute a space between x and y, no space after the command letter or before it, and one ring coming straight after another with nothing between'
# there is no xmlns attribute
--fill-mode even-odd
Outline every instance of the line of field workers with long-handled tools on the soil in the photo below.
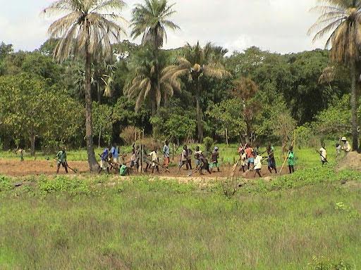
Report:
<svg viewBox="0 0 361 270"><path fill-rule="evenodd" d="M341 146L341 143L343 145ZM261 169L262 162L267 158L267 168L269 172L272 174L273 172L277 173L276 167L276 159L274 157L274 146L269 143L267 145L266 150L261 153L259 150L259 146L257 145L255 148L252 148L250 143L245 143L243 146L240 144L238 148L240 168L239 171L246 172L246 170L254 171L259 177L262 177ZM336 160L341 156L341 151L344 151L345 154L350 152L351 147L350 143L347 141L345 137L340 138L339 142L336 143ZM319 155L321 157L322 166L325 165L327 161L327 152L324 143L322 143L322 148L319 149ZM265 157L264 155L267 153ZM126 162L124 158L126 155L120 155L120 149L116 146L112 146L111 149L104 148L100 157L100 166L99 173L102 170L106 172L110 172L111 169L115 171L119 171L119 174L125 176L130 174L131 169L143 169L144 172L147 172L148 169L151 169L151 172L154 173L154 170L157 170L159 173L159 167L163 167L166 172L169 172L169 164L170 164L170 148L169 141L164 142L164 146L162 148L163 155L163 163L159 162L159 155L157 153L157 148L154 147L152 152L147 153L144 145L135 146L133 143L132 146L132 155L129 162ZM192 158L195 160L195 172L199 171L200 174L203 174L204 171L207 171L209 174L212 174L213 169L216 168L219 172L219 148L215 147L212 151L211 162L207 160L207 156L204 155L202 150L200 150L200 146L195 147L195 152L193 155L193 151L188 148L188 146L183 146L183 150L180 155L179 164L178 164L178 172L181 171L181 168L185 166L185 169L192 170ZM59 173L59 169L62 166L66 173L68 173L68 162L66 160L66 149L62 148L55 156L57 161L56 173ZM286 157L288 161L288 171L290 174L295 172L295 163L296 157L293 151L293 146L288 148L288 154ZM285 160L285 162L286 162ZM130 163L130 167L127 167L127 164ZM143 168L143 165L145 167Z"/></svg>

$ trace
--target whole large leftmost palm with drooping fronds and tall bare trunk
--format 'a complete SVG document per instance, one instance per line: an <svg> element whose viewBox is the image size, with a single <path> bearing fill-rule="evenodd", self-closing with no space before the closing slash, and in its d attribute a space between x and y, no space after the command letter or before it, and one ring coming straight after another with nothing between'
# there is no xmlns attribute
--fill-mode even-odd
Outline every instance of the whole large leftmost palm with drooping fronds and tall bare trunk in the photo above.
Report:
<svg viewBox="0 0 361 270"><path fill-rule="evenodd" d="M92 131L92 60L94 56L111 58L112 41L119 41L126 31L118 25L125 20L118 15L126 4L122 0L58 0L45 8L44 14L65 14L49 27L51 39L59 39L54 58L62 62L70 56L85 58L85 134L91 171L98 167Z"/></svg>

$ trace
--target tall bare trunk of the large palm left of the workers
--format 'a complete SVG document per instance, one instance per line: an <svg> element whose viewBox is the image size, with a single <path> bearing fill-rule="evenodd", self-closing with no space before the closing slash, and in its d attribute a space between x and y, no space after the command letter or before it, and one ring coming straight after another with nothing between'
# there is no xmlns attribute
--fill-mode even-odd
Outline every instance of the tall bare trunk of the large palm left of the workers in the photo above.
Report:
<svg viewBox="0 0 361 270"><path fill-rule="evenodd" d="M95 159L93 147L91 84L91 56L88 45L85 44L85 135L87 141L87 162L89 163L90 172L97 172L99 165Z"/></svg>

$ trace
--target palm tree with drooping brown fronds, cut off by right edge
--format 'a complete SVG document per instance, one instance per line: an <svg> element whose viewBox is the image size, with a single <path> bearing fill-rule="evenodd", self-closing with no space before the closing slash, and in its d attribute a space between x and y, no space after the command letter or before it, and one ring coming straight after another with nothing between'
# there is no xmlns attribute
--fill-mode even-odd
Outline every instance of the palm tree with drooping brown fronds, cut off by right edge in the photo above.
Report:
<svg viewBox="0 0 361 270"><path fill-rule="evenodd" d="M320 39L331 32L326 41L326 49L331 46L331 60L343 63L350 68L351 78L351 114L353 150L358 149L357 132L357 62L360 60L361 40L361 1L325 0L327 6L314 8L321 15L309 34L316 32L314 39Z"/></svg>

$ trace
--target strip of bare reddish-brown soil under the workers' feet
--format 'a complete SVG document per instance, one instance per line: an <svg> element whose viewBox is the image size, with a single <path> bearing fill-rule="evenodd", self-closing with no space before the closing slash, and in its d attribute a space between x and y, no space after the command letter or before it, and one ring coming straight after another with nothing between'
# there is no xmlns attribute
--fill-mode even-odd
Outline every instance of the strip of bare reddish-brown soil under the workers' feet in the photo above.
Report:
<svg viewBox="0 0 361 270"><path fill-rule="evenodd" d="M68 162L69 165L78 171L79 174L87 174L89 172L89 167L87 162L85 161L74 161ZM200 175L200 172L195 172L191 176L188 176L191 170L181 169L178 171L178 167L170 167L169 171L166 172L165 169L159 168L160 173L158 174L154 170L154 174L151 173L151 170L148 169L148 172L137 172L136 169L131 170L131 175L149 175L149 176L161 176L161 177L171 177L171 178L179 178L180 181L186 181L186 179L224 179L231 176L231 172L233 169L233 165L224 165L221 166L220 172L214 172L209 174L208 172L204 172L204 175ZM280 168L279 168L280 170ZM116 172L111 172L116 174ZM8 176L29 176L29 175L51 175L56 174L56 161L54 160L25 160L20 162L19 160L4 160L0 159L0 174L8 175ZM59 174L66 174L63 167L60 168ZM69 170L69 174L75 174L71 170ZM262 178L271 179L274 176L278 176L279 174L270 174L267 166L262 167ZM282 174L288 174L288 168L283 168ZM245 173L239 171L239 167L235 170L235 177L245 178L245 179L255 179L259 178L258 175L255 176L255 172L247 171ZM182 180L183 179L183 180Z"/></svg>

